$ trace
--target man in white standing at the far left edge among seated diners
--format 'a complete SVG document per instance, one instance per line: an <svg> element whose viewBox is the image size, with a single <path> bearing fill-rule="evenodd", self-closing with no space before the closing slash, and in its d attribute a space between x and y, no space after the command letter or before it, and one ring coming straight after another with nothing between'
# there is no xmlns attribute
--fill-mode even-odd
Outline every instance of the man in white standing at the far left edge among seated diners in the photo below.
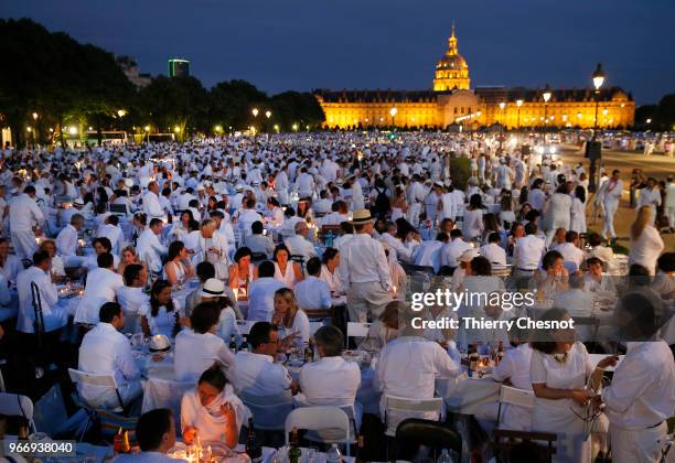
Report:
<svg viewBox="0 0 675 463"><path fill-rule="evenodd" d="M35 202L35 187L28 185L23 193L10 201L10 235L14 254L20 259L30 259L38 249L34 226L44 224L44 214Z"/></svg>

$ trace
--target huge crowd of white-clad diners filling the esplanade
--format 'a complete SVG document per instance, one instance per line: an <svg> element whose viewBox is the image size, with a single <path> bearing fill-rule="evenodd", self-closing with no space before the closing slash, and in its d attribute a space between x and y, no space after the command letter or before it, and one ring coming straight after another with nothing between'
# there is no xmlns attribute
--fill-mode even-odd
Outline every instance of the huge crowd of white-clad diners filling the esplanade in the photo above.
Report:
<svg viewBox="0 0 675 463"><path fill-rule="evenodd" d="M476 134L346 132L6 150L0 321L29 343L41 336L44 348L69 333L77 368L113 372L125 403L142 395L129 337L165 336L175 378L196 385L182 398L183 440L199 433L229 446L246 421L240 395L355 405L361 374L341 356L347 321L372 322L357 342L377 356L383 397L431 398L435 379L460 375L462 353L500 341L506 354L493 379L535 395L533 409L512 407L501 427L557 433L556 461L590 461L580 417L602 403L614 461L657 461L675 411L675 324L645 320L667 315L675 297L675 254L660 233L675 227L675 181L640 189L621 274L609 244L626 173L602 171L590 194L581 163L531 143L523 154ZM602 220L600 233L587 217ZM617 343L625 357L600 388L617 358L592 365L579 333L551 332L548 342L420 334L406 323L406 300L422 273L454 290L537 289L550 320L592 316L594 293L619 294L635 342ZM61 297L72 281L82 293ZM424 316L470 310L508 315L432 306ZM243 320L256 322L250 332L239 331ZM326 322L314 331L315 320ZM308 343L319 359L293 378L275 359ZM106 388L79 395L117 402Z"/></svg>

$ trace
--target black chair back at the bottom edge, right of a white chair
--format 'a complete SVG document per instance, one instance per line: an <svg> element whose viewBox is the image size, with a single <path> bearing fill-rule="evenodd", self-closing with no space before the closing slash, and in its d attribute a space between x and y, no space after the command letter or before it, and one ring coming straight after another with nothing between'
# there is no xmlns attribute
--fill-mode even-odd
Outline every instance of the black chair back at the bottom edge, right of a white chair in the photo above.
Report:
<svg viewBox="0 0 675 463"><path fill-rule="evenodd" d="M395 460L413 461L420 445L432 448L437 454L442 449L452 450L460 456L462 453L462 438L457 430L446 423L418 418L408 418L398 424L396 443Z"/></svg>

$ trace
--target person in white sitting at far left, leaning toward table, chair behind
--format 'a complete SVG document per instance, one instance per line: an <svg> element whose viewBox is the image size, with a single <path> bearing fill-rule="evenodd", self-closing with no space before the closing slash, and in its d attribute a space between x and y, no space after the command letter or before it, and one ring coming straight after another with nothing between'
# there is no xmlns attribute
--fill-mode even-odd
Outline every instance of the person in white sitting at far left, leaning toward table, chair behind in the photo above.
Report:
<svg viewBox="0 0 675 463"><path fill-rule="evenodd" d="M17 277L17 292L19 293L17 331L28 334L35 333L32 283L35 283L40 294L44 332L55 332L67 323L68 310L66 305L60 303L58 292L50 277L51 267L52 258L49 252L39 250L33 255L33 267Z"/></svg>

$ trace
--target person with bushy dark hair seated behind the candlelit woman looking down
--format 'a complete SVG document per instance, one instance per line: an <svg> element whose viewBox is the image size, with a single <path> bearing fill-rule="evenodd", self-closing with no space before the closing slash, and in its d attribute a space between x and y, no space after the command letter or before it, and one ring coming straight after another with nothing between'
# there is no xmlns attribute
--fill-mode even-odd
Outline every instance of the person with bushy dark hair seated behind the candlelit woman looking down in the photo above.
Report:
<svg viewBox="0 0 675 463"><path fill-rule="evenodd" d="M215 335L221 308L217 302L202 302L190 314L190 329L175 335L173 370L179 381L193 381L213 363L229 366L234 354Z"/></svg>

